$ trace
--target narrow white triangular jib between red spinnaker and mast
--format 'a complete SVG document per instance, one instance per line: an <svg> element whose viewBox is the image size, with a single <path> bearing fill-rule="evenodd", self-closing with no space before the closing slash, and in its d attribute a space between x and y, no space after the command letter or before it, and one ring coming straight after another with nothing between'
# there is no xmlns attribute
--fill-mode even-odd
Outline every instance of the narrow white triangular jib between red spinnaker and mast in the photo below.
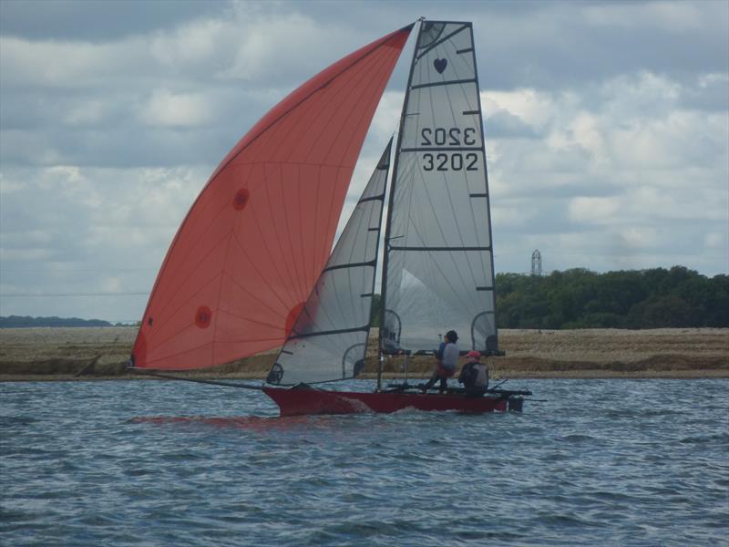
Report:
<svg viewBox="0 0 729 547"><path fill-rule="evenodd" d="M392 139L272 366L268 383L341 380L357 376L364 366L391 146Z"/></svg>

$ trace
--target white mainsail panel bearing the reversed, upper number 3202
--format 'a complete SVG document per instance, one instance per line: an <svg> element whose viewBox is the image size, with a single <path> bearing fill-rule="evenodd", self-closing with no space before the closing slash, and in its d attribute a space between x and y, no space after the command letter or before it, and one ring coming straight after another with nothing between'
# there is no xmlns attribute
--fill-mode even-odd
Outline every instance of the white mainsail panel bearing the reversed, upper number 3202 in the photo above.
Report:
<svg viewBox="0 0 729 547"><path fill-rule="evenodd" d="M411 89L402 150L483 149L481 117L464 114L477 110L478 88L475 81Z"/></svg>

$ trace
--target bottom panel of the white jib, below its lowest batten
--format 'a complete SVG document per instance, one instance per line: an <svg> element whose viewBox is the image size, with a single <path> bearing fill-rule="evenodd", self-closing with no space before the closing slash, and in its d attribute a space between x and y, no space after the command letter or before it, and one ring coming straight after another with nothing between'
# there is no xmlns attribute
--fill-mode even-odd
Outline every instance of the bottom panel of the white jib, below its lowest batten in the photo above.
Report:
<svg viewBox="0 0 729 547"><path fill-rule="evenodd" d="M317 383L356 376L364 364L367 332L293 338L283 347L277 363L282 386Z"/></svg>

